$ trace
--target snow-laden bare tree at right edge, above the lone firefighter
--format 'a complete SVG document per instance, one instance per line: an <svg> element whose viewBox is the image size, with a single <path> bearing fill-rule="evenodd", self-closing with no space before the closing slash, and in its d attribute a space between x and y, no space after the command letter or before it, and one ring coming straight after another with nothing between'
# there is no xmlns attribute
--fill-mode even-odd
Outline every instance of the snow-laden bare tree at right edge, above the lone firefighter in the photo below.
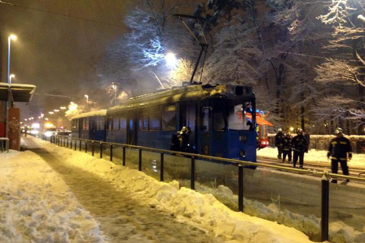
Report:
<svg viewBox="0 0 365 243"><path fill-rule="evenodd" d="M365 13L364 8L364 1L332 0L328 11L318 17L323 24L331 26L333 31L328 44L324 46L331 57L316 67L315 79L334 90L324 99L332 102L331 106L337 104L333 107L331 117L354 120L358 133L363 132L365 122L365 32L364 22L358 19L360 13ZM325 107L321 109L326 110Z"/></svg>

